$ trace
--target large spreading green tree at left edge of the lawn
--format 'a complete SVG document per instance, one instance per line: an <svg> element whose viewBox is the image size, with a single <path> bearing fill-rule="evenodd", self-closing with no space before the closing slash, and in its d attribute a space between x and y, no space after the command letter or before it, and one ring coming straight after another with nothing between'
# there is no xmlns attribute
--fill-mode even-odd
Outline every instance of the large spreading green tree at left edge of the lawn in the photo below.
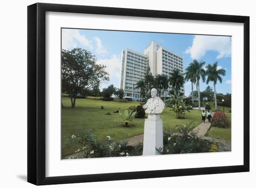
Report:
<svg viewBox="0 0 256 188"><path fill-rule="evenodd" d="M61 51L62 92L70 94L71 107L75 107L76 96L82 89L92 88L101 81L108 81L106 66L96 64L91 52L74 48Z"/></svg>

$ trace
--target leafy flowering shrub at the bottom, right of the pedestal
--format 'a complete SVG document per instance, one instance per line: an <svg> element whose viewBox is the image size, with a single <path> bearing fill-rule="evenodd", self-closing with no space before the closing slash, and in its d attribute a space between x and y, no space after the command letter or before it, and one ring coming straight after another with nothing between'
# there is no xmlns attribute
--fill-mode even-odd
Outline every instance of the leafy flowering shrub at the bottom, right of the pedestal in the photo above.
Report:
<svg viewBox="0 0 256 188"><path fill-rule="evenodd" d="M177 125L177 134L170 131L163 132L164 146L162 154L186 154L209 152L212 142L203 140L193 131L194 124L189 122L185 125Z"/></svg>

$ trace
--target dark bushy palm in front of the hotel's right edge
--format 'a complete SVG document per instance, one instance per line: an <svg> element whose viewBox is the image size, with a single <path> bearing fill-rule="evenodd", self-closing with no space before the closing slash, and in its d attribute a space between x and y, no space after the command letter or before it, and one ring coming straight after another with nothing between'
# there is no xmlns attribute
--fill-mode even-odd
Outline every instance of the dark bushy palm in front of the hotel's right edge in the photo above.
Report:
<svg viewBox="0 0 256 188"><path fill-rule="evenodd" d="M175 69L169 79L170 85L174 88L175 94L178 95L181 87L185 83L184 76L180 73L179 69Z"/></svg>

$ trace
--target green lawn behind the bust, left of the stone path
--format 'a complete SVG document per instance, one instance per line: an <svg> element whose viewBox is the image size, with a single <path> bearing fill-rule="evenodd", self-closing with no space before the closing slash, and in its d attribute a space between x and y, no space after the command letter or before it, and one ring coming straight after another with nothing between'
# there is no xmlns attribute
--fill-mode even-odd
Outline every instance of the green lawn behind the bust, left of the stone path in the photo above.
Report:
<svg viewBox="0 0 256 188"><path fill-rule="evenodd" d="M129 122L130 127L125 127L124 123L117 121L120 119L120 115L113 113L118 108L123 112L130 106L137 106L139 105L138 102L120 103L77 99L75 108L71 108L70 98L63 97L62 103L64 106L62 108L62 156L73 154L76 149L81 148L81 146L67 140L79 130L86 131L89 128L94 128L93 133L101 140L106 139L108 135L115 138L115 140L122 140L143 134L144 119L135 118L134 122ZM104 106L104 110L101 110L101 105ZM160 115L163 119L164 129L175 131L175 125L183 125L189 121L194 121L195 126L201 123L202 112L198 110L191 110L190 113L186 112L185 119L176 119L176 114L169 110L170 108L165 108ZM108 112L111 115L105 115Z"/></svg>

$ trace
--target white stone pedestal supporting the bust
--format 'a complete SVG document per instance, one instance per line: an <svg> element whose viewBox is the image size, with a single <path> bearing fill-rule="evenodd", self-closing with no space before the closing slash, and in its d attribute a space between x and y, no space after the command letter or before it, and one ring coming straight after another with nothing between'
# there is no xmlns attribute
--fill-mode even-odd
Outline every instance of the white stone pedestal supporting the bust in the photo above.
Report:
<svg viewBox="0 0 256 188"><path fill-rule="evenodd" d="M159 154L155 148L163 148L162 119L159 114L148 114L144 125L143 155Z"/></svg>

